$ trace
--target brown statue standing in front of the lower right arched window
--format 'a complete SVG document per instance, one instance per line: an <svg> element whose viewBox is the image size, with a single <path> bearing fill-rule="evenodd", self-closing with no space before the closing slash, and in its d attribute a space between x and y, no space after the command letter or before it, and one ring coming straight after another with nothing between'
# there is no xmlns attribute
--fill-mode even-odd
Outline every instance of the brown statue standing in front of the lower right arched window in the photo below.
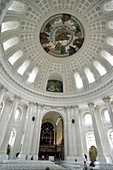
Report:
<svg viewBox="0 0 113 170"><path fill-rule="evenodd" d="M97 148L95 146L91 146L91 148L89 149L89 157L90 161L96 161Z"/></svg>

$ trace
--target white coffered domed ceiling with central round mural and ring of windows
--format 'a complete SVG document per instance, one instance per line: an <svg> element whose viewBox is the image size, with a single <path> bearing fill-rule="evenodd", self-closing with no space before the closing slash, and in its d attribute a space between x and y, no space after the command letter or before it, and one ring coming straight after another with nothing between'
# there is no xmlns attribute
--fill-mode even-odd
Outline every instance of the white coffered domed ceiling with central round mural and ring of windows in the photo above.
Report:
<svg viewBox="0 0 113 170"><path fill-rule="evenodd" d="M113 1L1 1L1 84L47 104L113 91Z"/></svg>

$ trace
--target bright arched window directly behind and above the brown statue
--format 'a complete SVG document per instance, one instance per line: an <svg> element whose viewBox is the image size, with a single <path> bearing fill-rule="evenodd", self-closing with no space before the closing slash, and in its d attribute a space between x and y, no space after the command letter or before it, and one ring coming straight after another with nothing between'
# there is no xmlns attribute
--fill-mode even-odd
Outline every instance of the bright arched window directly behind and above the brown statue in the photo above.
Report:
<svg viewBox="0 0 113 170"><path fill-rule="evenodd" d="M87 149L88 150L92 145L96 146L95 136L94 136L93 132L89 132L86 135L86 143L87 143Z"/></svg>

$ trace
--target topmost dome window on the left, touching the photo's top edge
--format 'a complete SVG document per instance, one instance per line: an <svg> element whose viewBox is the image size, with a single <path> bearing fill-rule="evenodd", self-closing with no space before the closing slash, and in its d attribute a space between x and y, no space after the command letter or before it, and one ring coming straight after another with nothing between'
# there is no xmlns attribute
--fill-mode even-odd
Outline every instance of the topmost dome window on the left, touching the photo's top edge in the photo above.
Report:
<svg viewBox="0 0 113 170"><path fill-rule="evenodd" d="M21 2L14 1L12 5L9 7L8 10L16 11L16 12L24 12L25 11L25 5Z"/></svg>

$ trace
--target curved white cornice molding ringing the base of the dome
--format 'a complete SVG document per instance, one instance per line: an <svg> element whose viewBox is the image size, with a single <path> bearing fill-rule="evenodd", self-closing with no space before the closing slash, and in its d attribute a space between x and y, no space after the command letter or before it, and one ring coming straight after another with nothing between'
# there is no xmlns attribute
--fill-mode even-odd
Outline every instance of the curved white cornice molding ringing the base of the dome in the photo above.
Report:
<svg viewBox="0 0 113 170"><path fill-rule="evenodd" d="M103 84L103 86L101 86L100 88L98 89L95 89L95 90L91 90L89 92L85 92L85 93L82 93L82 94L78 94L78 95L54 95L52 94L51 96L46 94L46 93L40 93L40 92L36 92L36 91L33 91L31 89L28 89L26 87L24 87L23 85L19 84L18 82L16 82L9 74L8 72L5 70L5 68L3 67L2 63L0 63L0 67L1 67L1 74L3 75L3 78L5 78L5 81L7 82L7 85L9 85L9 82L10 82L10 88L13 89L15 91L16 94L19 94L20 96L22 96L22 94L26 94L29 96L29 99L30 98L36 98L38 97L38 100L39 99L42 99L43 100L52 100L54 102L54 100L62 100L64 99L65 101L63 103L66 103L70 100L73 100L73 101L76 101L76 100L80 100L81 98L85 98L85 100L88 100L90 101L90 98L97 98L98 99L98 94L100 96L100 98L103 98L103 95L101 97L101 94L104 93L104 96L105 96L105 92L108 93L108 89L110 87L112 87L113 89L113 79L111 79L109 82L106 82L105 84ZM1 76L2 77L2 76ZM5 82L5 83L6 83ZM5 84L5 86L7 86ZM7 87L9 89L9 87ZM17 92L17 89L20 93ZM97 96L97 97L96 97ZM23 97L23 96L22 96ZM36 100L37 101L37 100ZM60 101L59 101L60 102Z"/></svg>

